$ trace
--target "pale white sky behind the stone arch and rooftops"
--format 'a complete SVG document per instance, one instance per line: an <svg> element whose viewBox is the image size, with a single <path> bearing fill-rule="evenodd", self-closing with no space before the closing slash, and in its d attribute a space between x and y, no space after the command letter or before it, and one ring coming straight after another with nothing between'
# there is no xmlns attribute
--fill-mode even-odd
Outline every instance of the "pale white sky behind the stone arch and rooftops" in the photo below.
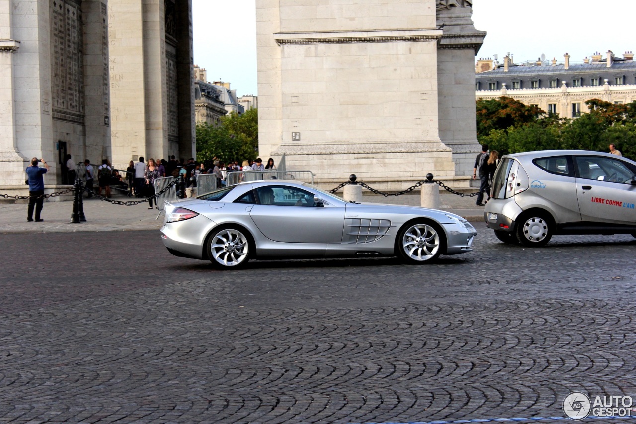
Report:
<svg viewBox="0 0 636 424"><path fill-rule="evenodd" d="M258 95L256 85L256 0L193 0L195 64L210 81L232 83L239 95ZM473 0L476 29L487 31L476 59L506 53L515 62L572 62L594 52L636 51L635 0Z"/></svg>

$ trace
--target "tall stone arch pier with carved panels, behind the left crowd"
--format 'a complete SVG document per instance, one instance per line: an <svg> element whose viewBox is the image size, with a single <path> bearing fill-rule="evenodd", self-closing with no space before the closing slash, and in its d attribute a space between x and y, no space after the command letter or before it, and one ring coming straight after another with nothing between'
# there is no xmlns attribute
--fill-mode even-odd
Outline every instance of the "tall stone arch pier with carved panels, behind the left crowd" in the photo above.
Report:
<svg viewBox="0 0 636 424"><path fill-rule="evenodd" d="M191 0L0 0L0 186L76 162L195 152Z"/></svg>

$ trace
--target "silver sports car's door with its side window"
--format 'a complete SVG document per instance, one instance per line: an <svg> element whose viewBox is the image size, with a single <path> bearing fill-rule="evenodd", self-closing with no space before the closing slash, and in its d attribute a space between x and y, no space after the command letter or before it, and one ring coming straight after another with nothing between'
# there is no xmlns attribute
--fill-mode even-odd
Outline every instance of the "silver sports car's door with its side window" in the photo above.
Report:
<svg viewBox="0 0 636 424"><path fill-rule="evenodd" d="M273 241L284 243L341 243L345 207L314 203L314 194L294 186L256 188L258 204L250 216Z"/></svg>

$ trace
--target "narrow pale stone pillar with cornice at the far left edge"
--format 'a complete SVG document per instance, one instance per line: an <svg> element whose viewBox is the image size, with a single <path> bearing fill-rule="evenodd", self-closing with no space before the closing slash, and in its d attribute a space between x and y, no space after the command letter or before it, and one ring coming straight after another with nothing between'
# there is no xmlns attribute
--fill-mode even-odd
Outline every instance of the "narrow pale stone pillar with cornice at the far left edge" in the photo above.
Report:
<svg viewBox="0 0 636 424"><path fill-rule="evenodd" d="M24 185L27 159L17 149L15 135L14 58L20 41L13 39L13 1L0 1L0 185Z"/></svg>

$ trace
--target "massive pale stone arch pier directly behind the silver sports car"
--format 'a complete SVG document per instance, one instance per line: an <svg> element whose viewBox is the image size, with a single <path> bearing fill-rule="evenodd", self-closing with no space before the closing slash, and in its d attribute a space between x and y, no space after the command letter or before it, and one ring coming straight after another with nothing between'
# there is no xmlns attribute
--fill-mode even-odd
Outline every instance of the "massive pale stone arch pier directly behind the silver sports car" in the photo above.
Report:
<svg viewBox="0 0 636 424"><path fill-rule="evenodd" d="M479 151L467 0L257 0L259 154L319 183L467 185Z"/></svg>

